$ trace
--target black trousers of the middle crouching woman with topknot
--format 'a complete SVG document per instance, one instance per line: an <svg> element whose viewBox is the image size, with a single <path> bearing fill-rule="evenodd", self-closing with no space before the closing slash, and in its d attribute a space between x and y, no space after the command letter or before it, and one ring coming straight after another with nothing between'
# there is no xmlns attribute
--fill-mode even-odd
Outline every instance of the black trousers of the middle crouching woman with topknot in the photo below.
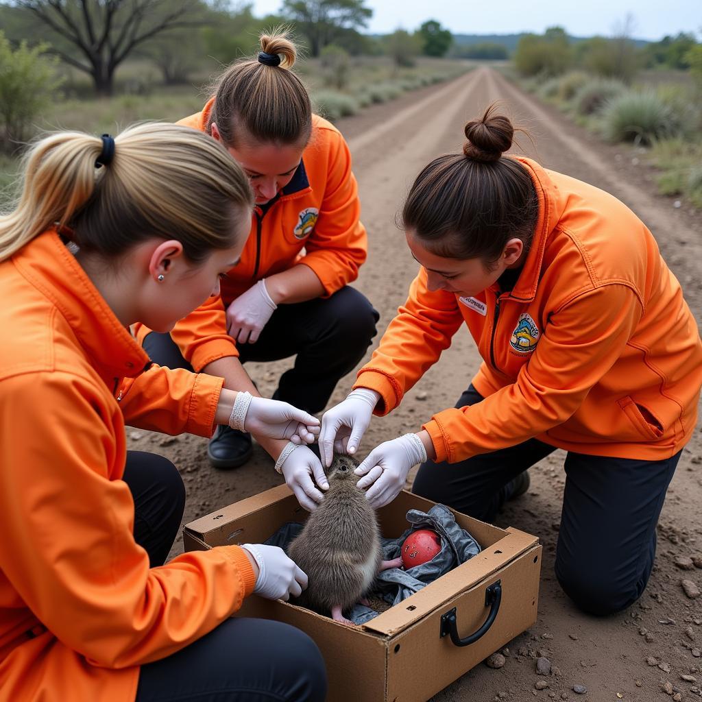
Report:
<svg viewBox="0 0 702 702"><path fill-rule="evenodd" d="M278 305L256 343L237 344L239 360L278 361L297 354L273 398L320 412L339 378L363 358L376 336L378 318L371 303L349 286L329 298ZM159 366L192 370L169 334L150 333L144 350Z"/></svg>

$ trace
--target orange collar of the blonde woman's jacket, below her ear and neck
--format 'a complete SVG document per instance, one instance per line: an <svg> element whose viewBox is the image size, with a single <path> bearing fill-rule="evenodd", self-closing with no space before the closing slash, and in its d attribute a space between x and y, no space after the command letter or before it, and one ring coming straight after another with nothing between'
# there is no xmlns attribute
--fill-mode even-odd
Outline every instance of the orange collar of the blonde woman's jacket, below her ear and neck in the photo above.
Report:
<svg viewBox="0 0 702 702"><path fill-rule="evenodd" d="M101 376L134 377L150 364L55 230L30 241L15 253L13 262L58 308Z"/></svg>

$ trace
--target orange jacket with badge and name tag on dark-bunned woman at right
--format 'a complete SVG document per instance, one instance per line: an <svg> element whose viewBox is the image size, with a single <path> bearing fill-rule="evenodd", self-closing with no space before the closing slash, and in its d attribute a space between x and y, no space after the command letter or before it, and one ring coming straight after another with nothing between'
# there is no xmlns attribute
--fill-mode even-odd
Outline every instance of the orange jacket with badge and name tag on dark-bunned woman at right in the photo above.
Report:
<svg viewBox="0 0 702 702"><path fill-rule="evenodd" d="M673 456L694 430L702 384L702 344L680 284L620 201L518 160L539 217L514 289L431 292L420 270L354 387L377 390L376 413L388 413L465 322L484 359L472 383L486 399L424 425L437 461L531 437L595 456Z"/></svg>

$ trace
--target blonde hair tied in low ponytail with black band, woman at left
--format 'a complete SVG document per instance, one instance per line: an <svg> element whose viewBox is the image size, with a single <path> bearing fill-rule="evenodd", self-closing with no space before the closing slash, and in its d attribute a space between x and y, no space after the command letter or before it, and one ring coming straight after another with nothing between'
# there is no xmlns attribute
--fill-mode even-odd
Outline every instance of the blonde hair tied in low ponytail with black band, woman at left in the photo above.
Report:
<svg viewBox="0 0 702 702"><path fill-rule="evenodd" d="M86 251L119 256L148 237L178 239L197 263L236 242L251 216L249 179L208 135L145 123L114 139L114 158L98 168L102 140L61 132L25 157L15 210L0 216L0 260L53 227L72 230Z"/></svg>

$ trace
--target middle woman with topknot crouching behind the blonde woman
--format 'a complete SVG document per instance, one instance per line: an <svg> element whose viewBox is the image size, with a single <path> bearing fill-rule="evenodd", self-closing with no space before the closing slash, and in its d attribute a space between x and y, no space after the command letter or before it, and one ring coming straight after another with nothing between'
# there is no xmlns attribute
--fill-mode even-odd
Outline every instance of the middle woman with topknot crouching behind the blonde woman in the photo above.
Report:
<svg viewBox="0 0 702 702"><path fill-rule="evenodd" d="M221 295L170 335L140 329L138 338L155 362L223 376L225 387L254 395L242 363L297 355L273 397L319 412L376 333L377 312L349 287L366 259L366 230L348 147L312 114L291 70L295 46L284 34L264 34L260 46L256 59L224 72L201 112L180 123L223 143L251 178L256 208L241 263L227 272ZM273 458L280 452L275 447ZM216 468L236 468L251 456L251 435L220 427L208 456ZM304 447L282 466L307 508L314 502L305 489L319 496L305 479L312 466L323 475Z"/></svg>

